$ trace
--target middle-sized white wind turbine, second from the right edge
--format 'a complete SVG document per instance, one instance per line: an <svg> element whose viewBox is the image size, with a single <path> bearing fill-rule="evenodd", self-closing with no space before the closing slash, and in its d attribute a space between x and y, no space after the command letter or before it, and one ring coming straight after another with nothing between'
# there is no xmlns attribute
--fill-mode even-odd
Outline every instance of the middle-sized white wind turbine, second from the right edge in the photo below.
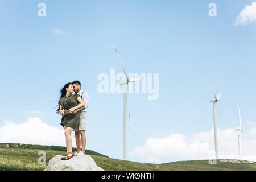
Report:
<svg viewBox="0 0 256 182"><path fill-rule="evenodd" d="M212 84L210 84L210 88L212 88ZM222 91L220 92L220 94L218 94L218 97L216 97L216 94L214 93L213 88L212 88L212 92L214 94L215 100L210 100L210 103L213 104L214 146L215 146L215 154L216 154L216 160L217 160L218 159L218 134L217 134L215 104L217 104L217 107L218 107L218 99L220 98ZM218 115L220 115L220 109L219 108L218 108Z"/></svg>

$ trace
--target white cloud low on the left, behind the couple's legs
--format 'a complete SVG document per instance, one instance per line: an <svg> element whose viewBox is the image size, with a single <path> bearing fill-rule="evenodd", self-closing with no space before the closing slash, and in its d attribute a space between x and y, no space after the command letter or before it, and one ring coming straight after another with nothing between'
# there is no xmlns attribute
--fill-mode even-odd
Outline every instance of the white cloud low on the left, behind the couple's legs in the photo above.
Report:
<svg viewBox="0 0 256 182"><path fill-rule="evenodd" d="M73 132L72 132L73 133ZM75 135L72 134L72 146L75 147ZM28 118L23 123L5 121L0 127L0 143L24 143L65 146L64 129L49 126L39 118Z"/></svg>

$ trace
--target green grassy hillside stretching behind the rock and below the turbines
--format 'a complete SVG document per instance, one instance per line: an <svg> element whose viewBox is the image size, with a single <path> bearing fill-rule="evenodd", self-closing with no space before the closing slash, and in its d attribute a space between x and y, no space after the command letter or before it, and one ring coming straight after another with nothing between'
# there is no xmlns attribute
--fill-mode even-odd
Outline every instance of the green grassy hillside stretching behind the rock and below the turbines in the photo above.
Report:
<svg viewBox="0 0 256 182"><path fill-rule="evenodd" d="M46 152L46 165L38 164L39 151ZM73 148L76 151L76 148ZM208 160L191 160L172 162L164 164L138 163L125 160L109 158L98 152L91 150L85 151L92 156L96 164L104 170L228 170L228 171L256 171L256 163L233 163L217 161L216 165L210 165ZM1 170L43 170L48 162L55 155L67 155L66 148L60 146L40 146L31 144L0 143L0 171Z"/></svg>

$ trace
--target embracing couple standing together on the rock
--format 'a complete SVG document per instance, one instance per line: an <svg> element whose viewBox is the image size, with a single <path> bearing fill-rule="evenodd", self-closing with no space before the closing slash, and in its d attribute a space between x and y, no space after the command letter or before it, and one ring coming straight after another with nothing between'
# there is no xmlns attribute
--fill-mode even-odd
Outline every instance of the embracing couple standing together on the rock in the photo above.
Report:
<svg viewBox="0 0 256 182"><path fill-rule="evenodd" d="M81 83L79 81L65 84L60 92L61 96L57 113L62 115L60 125L63 126L65 130L64 134L68 153L68 155L61 158L61 160L69 160L75 155L85 155L86 112L89 104L89 94L81 90ZM72 94L73 92L75 93ZM76 136L77 151L75 154L72 152L72 131L75 131Z"/></svg>

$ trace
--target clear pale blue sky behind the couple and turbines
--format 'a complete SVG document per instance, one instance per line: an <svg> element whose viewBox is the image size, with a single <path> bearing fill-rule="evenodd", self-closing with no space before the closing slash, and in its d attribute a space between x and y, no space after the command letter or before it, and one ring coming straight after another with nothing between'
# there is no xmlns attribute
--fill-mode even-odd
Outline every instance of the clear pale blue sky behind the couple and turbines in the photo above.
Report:
<svg viewBox="0 0 256 182"><path fill-rule="evenodd" d="M217 17L208 15L211 2ZM0 127L38 117L62 129L59 89L80 80L90 95L86 148L122 159L122 94L97 92L100 73L122 73L112 38L128 73L159 73L157 100L131 94L129 152L150 137L212 129L207 78L223 91L222 129L238 127L237 101L245 131L254 129L256 22L233 25L252 2L0 1Z"/></svg>

